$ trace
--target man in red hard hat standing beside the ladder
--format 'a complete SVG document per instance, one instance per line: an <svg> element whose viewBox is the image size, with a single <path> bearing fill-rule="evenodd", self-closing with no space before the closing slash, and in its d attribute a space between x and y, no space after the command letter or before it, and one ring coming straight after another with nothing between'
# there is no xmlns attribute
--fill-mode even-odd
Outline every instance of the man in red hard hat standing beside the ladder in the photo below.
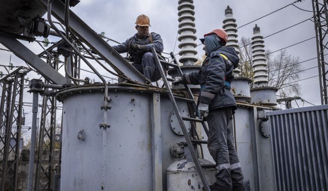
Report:
<svg viewBox="0 0 328 191"><path fill-rule="evenodd" d="M245 190L232 134L232 119L237 106L230 91L239 57L234 48L225 47L228 35L222 29L214 29L200 41L207 55L200 71L176 77L173 83L201 85L198 113L206 118L209 129L207 147L217 169L216 181L210 189Z"/></svg>

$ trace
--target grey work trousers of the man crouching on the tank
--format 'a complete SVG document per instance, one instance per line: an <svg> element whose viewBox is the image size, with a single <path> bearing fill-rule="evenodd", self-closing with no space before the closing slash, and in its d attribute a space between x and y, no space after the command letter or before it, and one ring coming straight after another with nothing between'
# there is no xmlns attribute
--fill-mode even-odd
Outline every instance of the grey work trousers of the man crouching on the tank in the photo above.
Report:
<svg viewBox="0 0 328 191"><path fill-rule="evenodd" d="M142 56L141 64L133 63L132 65L152 82L157 81L161 77L154 55L151 52L146 52Z"/></svg>

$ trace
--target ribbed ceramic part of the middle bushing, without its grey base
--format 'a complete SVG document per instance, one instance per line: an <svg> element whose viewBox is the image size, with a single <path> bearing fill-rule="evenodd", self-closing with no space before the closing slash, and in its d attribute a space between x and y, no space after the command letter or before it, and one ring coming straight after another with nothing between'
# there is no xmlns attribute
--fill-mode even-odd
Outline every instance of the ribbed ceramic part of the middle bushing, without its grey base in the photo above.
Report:
<svg viewBox="0 0 328 191"><path fill-rule="evenodd" d="M228 41L226 46L234 47L237 54L239 54L239 44L238 44L238 35L237 35L237 23L236 19L234 18L232 9L228 6L227 9L225 10L225 16L226 18L223 20L223 29L227 32L228 34ZM240 76L240 69L236 68L234 69L234 74L236 77Z"/></svg>

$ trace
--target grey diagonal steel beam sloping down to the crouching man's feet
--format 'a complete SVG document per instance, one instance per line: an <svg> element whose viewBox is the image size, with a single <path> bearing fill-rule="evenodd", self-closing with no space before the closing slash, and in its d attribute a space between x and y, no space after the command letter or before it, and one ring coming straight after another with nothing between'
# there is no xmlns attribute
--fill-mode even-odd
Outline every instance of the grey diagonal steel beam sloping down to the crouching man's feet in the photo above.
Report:
<svg viewBox="0 0 328 191"><path fill-rule="evenodd" d="M47 9L47 0L39 0L45 9ZM65 5L60 1L52 2L51 15L64 24ZM98 54L106 63L120 75L125 75L133 81L140 83L149 82L136 68L134 68L125 58L116 52L111 45L104 41L93 29L84 23L72 11L69 12L70 28L75 35L96 54Z"/></svg>

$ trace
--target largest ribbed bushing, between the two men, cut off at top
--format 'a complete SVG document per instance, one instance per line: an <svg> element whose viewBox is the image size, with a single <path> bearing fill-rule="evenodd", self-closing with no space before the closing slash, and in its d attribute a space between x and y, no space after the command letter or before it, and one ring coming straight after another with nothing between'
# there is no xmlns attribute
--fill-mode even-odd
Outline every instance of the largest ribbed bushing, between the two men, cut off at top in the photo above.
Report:
<svg viewBox="0 0 328 191"><path fill-rule="evenodd" d="M197 47L197 43L195 42L197 36L195 35L195 6L193 5L193 2L193 0L179 0L178 2L178 40L180 42L178 47L181 49L179 51L179 55L181 56L179 62L184 66L194 65L198 60L195 56L197 54L197 51L195 50Z"/></svg>

